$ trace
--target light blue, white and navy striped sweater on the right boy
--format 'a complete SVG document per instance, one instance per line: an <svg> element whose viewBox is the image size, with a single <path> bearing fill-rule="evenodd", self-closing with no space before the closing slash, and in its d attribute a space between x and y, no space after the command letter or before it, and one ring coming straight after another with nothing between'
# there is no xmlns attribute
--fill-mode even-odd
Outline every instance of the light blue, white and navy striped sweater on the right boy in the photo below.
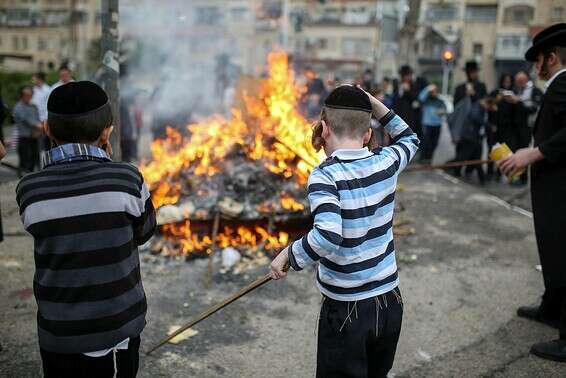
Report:
<svg viewBox="0 0 566 378"><path fill-rule="evenodd" d="M295 270L319 262L318 288L335 300L362 300L399 284L393 241L395 188L419 140L393 112L380 123L393 138L391 146L337 150L313 170L308 198L314 227L289 249Z"/></svg>

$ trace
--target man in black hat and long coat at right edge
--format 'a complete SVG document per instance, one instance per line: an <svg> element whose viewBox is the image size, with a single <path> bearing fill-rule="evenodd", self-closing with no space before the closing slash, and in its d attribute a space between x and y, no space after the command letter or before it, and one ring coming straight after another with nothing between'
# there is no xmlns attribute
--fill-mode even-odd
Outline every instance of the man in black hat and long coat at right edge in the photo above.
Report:
<svg viewBox="0 0 566 378"><path fill-rule="evenodd" d="M534 126L534 146L518 150L501 164L505 174L531 166L531 197L545 292L540 306L518 315L560 329L558 340L533 345L531 353L566 362L566 24L550 26L525 55L535 62L546 92Z"/></svg>

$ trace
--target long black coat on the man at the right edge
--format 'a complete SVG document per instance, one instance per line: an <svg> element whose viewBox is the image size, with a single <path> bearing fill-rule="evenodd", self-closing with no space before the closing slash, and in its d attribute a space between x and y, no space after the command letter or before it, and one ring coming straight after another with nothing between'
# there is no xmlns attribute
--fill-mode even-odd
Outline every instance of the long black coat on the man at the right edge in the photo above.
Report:
<svg viewBox="0 0 566 378"><path fill-rule="evenodd" d="M531 167L537 245L546 288L566 288L566 73L542 98L534 145L545 159Z"/></svg>

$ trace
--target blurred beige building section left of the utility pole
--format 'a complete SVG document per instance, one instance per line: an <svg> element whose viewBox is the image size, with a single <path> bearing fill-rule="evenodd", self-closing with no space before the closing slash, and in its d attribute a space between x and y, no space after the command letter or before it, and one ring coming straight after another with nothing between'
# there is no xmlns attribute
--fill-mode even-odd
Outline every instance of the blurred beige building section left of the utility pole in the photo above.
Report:
<svg viewBox="0 0 566 378"><path fill-rule="evenodd" d="M0 68L81 68L100 38L100 0L0 0Z"/></svg>

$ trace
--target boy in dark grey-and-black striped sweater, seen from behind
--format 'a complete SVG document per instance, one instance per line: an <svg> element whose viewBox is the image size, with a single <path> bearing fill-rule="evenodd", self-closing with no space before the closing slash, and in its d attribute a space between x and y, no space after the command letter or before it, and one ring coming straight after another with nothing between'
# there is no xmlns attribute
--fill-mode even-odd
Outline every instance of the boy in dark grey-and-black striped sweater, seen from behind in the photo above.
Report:
<svg viewBox="0 0 566 378"><path fill-rule="evenodd" d="M57 147L16 189L34 238L43 373L135 377L147 308L137 248L156 227L150 194L135 167L110 160L112 111L102 88L62 85L47 109Z"/></svg>

